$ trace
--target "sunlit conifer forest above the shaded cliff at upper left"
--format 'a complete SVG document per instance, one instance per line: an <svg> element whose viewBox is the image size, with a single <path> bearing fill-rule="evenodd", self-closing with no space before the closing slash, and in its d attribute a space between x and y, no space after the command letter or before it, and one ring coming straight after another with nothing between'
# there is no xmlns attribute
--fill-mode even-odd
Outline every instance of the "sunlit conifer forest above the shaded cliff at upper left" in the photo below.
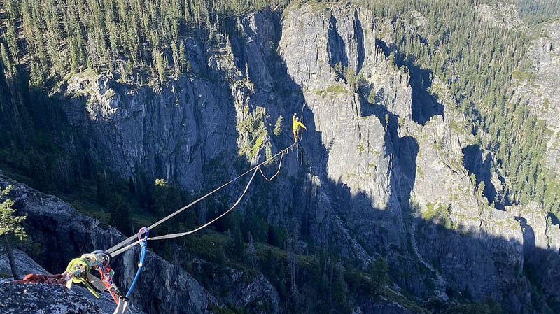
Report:
<svg viewBox="0 0 560 314"><path fill-rule="evenodd" d="M287 1L6 0L2 60L10 75L28 56L29 83L39 87L84 69L163 82L188 71L186 36L212 41L225 17Z"/></svg>

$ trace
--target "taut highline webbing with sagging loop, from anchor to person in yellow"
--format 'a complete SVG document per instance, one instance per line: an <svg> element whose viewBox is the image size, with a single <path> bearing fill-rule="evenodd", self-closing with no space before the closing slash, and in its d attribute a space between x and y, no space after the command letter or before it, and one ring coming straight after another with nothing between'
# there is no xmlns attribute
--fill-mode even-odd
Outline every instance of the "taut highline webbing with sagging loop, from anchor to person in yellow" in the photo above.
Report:
<svg viewBox="0 0 560 314"><path fill-rule="evenodd" d="M280 159L280 166L279 166L279 170L276 172L276 174L274 174L274 176L272 176L272 178L268 179L265 177L264 173L261 174L263 177L265 177L266 180L272 180L274 177L276 177L280 171L280 167L281 167L281 160L283 158L283 155L290 149L293 148L293 146L295 145L295 143L293 143L292 145L289 145L287 148L281 150L280 152L276 153L276 155L266 159L264 162L260 162L260 164L257 164L255 166L253 166L251 169L248 169L248 171L245 171L244 173L241 173L239 176L233 178L232 180L228 181L227 183L224 183L223 185L221 185L220 187L217 187L215 190L212 190L211 192L204 194L202 197L196 199L195 201L190 202L190 204L183 206L182 208L179 208L178 210L176 210L174 213L171 213L170 215L167 215L166 217L163 217L161 220L158 220L158 222L155 222L154 224L152 224L150 227L148 227L148 230L151 230L155 227L158 227L160 224L162 224L163 222L166 222L167 220L171 219L172 217L179 215L179 213L183 212L183 210L186 210L187 208L190 208L191 206L194 206L195 204L199 203L200 201L202 201L203 199L209 197L210 195L218 192L219 190L223 189L224 187L227 187L228 185L230 185L231 183L234 183L236 180L239 180L239 178L242 178L244 176L246 176L248 173L251 173L251 171L255 171L253 173L253 176L251 177L251 180L249 180L248 185L245 187L245 190L243 192L243 194L241 194L241 197L239 199L237 199L237 201L235 202L234 206L232 206L232 208L230 208L229 210L227 210L225 213L223 213L222 215L216 217L216 219L211 220L210 222L208 222L207 224L202 225L202 227L199 227L195 230L191 230L188 231L187 233L183 232L181 233L181 235L186 235L186 234L192 234L193 232L196 232L200 229L203 229L204 227L207 227L209 224L212 224L213 222L215 222L216 220L220 219L221 217L223 217L223 215L229 213L233 208L235 208L235 206L237 206L237 204L239 204L239 201L241 201L241 199L244 197L249 185L251 185L251 182L253 181L253 178L255 177L255 174L257 173L257 171L260 170L260 166L262 166L263 164L267 164L268 162L271 162L273 159L275 159L276 157L278 157L279 155L281 155L281 159ZM111 254L111 257L115 257L117 255L119 255L122 252L125 252L126 250L132 248L134 245L137 245L139 243L139 241L135 241L133 243L130 243L130 241L133 241L134 238L137 238L137 236L139 236L139 233L134 234L133 236L130 236L129 238L127 238L124 241L121 241L120 243L114 245L112 248L109 248L109 250L106 250L106 252L109 252ZM168 235L170 236L170 235ZM177 236L173 236L172 238L176 238ZM160 240L160 237L153 237L153 238L149 238L150 240ZM130 244L129 244L130 243Z"/></svg>

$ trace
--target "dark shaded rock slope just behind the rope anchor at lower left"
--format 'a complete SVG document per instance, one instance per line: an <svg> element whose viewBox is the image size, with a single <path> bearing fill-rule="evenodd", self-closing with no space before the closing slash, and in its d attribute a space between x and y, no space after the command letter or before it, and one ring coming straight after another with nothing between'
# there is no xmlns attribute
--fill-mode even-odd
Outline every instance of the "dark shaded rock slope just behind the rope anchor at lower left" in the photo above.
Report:
<svg viewBox="0 0 560 314"><path fill-rule="evenodd" d="M41 243L36 262L52 273L62 273L64 264L74 258L76 252L92 252L97 248L109 248L112 243L125 239L114 228L102 227L98 220L87 217L57 197L41 194L26 185L0 177L0 185L13 185L11 197L15 199L18 212L27 215L29 236ZM136 252L136 255L138 252ZM136 261L133 250L123 254L112 264L118 273L118 283L127 286L132 282ZM139 289L134 293L147 312L204 313L207 297L203 288L186 271L169 264L161 257L148 252L146 269ZM26 269L24 269L26 270ZM153 290L155 286L166 290ZM141 291L150 291L150 297L139 298Z"/></svg>

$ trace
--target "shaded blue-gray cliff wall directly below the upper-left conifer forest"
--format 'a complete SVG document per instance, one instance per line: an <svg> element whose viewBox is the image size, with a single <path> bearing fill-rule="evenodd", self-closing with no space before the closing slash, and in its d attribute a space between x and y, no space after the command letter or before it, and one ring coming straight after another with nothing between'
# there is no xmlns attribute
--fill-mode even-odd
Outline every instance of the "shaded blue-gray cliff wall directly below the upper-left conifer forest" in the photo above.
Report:
<svg viewBox="0 0 560 314"><path fill-rule="evenodd" d="M203 161L235 147L235 113L221 106L231 95L211 82L183 77L152 89L77 75L64 88L72 97L64 110L86 132L92 157L125 178L142 169L199 189Z"/></svg>

